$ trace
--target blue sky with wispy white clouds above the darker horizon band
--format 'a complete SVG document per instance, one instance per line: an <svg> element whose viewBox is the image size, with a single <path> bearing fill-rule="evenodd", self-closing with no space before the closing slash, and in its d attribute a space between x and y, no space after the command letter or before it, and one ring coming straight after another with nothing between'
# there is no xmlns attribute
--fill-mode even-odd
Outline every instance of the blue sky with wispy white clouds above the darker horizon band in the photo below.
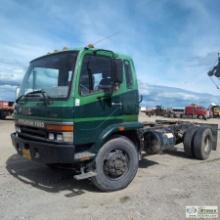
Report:
<svg viewBox="0 0 220 220"><path fill-rule="evenodd" d="M218 0L0 0L0 81L54 49L97 47L133 57L154 85L219 94L207 77L220 51Z"/></svg>

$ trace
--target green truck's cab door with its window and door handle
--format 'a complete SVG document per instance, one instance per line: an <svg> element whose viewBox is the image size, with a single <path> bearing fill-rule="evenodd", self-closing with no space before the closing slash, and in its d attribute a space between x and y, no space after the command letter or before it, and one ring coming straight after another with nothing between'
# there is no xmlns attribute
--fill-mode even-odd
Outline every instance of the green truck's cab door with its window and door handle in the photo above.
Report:
<svg viewBox="0 0 220 220"><path fill-rule="evenodd" d="M100 88L113 83L111 56L84 56L74 112L75 144L94 143L107 126L122 122L121 86L111 94Z"/></svg>

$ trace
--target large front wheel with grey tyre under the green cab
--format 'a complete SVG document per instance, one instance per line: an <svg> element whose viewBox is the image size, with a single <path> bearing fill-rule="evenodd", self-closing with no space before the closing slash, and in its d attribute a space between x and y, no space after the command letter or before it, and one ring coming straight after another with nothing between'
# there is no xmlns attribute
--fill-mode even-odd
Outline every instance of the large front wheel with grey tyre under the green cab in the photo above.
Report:
<svg viewBox="0 0 220 220"><path fill-rule="evenodd" d="M93 184L101 191L123 189L134 179L138 170L138 152L126 137L116 137L106 142L95 159L97 175Z"/></svg>

